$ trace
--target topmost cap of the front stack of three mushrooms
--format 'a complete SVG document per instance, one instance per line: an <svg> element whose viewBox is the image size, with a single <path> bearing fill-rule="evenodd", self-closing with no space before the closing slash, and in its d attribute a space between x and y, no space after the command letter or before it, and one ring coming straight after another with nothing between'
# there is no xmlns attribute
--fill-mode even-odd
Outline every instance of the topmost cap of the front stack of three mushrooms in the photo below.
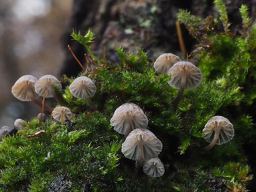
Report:
<svg viewBox="0 0 256 192"><path fill-rule="evenodd" d="M114 130L127 135L136 128L147 128L148 120L143 110L134 103L124 103L116 109L110 119L110 125Z"/></svg>

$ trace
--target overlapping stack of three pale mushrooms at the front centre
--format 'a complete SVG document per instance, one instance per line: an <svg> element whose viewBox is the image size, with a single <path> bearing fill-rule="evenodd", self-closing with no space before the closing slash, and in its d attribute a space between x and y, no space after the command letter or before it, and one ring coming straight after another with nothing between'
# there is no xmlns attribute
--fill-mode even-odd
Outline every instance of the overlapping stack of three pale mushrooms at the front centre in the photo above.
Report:
<svg viewBox="0 0 256 192"><path fill-rule="evenodd" d="M134 103L124 103L116 109L110 119L114 130L126 136L122 144L122 153L143 166L150 177L164 174L164 165L158 158L162 150L161 141L147 129L148 119L143 110Z"/></svg>

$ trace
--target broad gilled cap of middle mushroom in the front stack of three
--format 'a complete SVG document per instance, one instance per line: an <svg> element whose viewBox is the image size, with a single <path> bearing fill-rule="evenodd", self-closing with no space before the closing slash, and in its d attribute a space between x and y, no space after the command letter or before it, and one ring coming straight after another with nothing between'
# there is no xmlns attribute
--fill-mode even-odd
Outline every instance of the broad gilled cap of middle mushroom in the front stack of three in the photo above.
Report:
<svg viewBox="0 0 256 192"><path fill-rule="evenodd" d="M146 161L162 150L161 141L149 130L137 128L129 133L122 144L122 153L129 159Z"/></svg>

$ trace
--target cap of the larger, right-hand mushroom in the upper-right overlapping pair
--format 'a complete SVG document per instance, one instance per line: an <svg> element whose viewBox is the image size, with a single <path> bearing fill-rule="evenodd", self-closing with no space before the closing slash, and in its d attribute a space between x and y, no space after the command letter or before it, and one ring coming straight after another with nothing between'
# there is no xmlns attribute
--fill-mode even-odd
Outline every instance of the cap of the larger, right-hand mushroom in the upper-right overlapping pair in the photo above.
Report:
<svg viewBox="0 0 256 192"><path fill-rule="evenodd" d="M169 69L167 74L171 75L171 80L168 81L168 84L176 89L180 89L182 77L187 78L184 90L196 88L200 85L203 79L201 70L191 62L187 61L175 63L171 69Z"/></svg>

